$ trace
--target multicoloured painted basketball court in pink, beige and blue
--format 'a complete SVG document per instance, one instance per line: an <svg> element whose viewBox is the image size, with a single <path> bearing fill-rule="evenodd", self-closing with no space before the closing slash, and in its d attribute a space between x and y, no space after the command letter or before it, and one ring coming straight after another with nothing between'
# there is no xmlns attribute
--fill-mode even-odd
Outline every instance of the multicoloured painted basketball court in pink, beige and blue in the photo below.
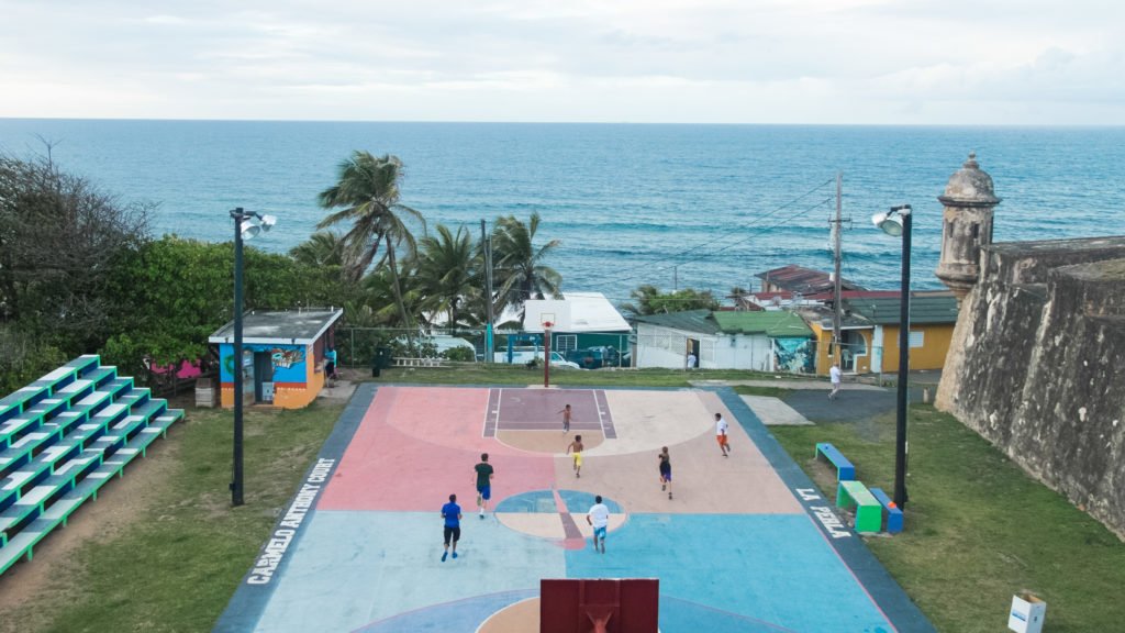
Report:
<svg viewBox="0 0 1125 633"><path fill-rule="evenodd" d="M580 476L564 454L575 435ZM451 493L461 540L442 562ZM585 518L595 494L604 554ZM826 507L727 390L364 385L216 631L533 633L544 578L659 579L665 633L933 631L854 533L816 518Z"/></svg>

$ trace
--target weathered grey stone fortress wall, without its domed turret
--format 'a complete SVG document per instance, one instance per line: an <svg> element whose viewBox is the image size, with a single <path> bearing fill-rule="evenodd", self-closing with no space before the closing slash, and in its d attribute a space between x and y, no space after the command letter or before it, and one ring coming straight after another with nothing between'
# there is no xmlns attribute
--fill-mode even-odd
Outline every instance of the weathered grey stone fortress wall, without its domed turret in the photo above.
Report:
<svg viewBox="0 0 1125 633"><path fill-rule="evenodd" d="M1125 237L979 251L936 407L1125 538Z"/></svg>

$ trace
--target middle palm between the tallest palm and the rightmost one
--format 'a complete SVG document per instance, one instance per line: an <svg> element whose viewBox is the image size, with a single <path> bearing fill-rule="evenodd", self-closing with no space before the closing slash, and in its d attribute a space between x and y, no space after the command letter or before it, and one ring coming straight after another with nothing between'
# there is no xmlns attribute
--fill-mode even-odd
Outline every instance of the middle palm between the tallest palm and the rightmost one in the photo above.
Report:
<svg viewBox="0 0 1125 633"><path fill-rule="evenodd" d="M418 283L431 312L444 312L448 324L457 328L459 309L480 293L480 253L465 226L454 234L444 224L435 235L418 242Z"/></svg>

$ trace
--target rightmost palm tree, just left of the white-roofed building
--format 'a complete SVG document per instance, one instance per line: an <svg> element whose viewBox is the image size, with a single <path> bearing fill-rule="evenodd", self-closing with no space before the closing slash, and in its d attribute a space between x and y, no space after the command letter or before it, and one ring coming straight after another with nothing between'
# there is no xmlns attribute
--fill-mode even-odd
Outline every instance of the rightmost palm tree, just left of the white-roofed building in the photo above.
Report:
<svg viewBox="0 0 1125 633"><path fill-rule="evenodd" d="M538 213L531 214L528 224L514 215L496 219L493 258L500 282L497 298L501 307L523 305L529 298L543 298L547 293L559 294L562 276L543 261L562 242L551 240L537 249L533 242L539 221Z"/></svg>

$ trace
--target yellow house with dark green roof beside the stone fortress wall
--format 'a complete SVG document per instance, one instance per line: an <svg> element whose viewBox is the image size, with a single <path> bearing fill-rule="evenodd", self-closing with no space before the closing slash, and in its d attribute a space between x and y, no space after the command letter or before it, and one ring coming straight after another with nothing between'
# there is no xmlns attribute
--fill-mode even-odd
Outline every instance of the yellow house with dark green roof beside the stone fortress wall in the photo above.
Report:
<svg viewBox="0 0 1125 633"><path fill-rule="evenodd" d="M849 293L840 323L840 369L879 374L899 369L898 296ZM871 293L876 295L876 293ZM806 309L801 315L817 341L817 374L827 375L832 358L832 313L829 307ZM910 369L940 369L957 322L957 300L947 291L912 293L910 297Z"/></svg>

